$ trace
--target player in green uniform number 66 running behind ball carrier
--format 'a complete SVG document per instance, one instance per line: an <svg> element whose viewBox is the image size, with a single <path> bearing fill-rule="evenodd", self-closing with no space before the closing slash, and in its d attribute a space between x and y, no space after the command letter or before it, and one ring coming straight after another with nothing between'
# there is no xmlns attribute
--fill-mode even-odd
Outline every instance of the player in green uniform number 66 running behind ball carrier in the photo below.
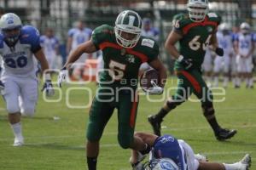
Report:
<svg viewBox="0 0 256 170"><path fill-rule="evenodd" d="M154 133L159 136L163 118L192 93L201 100L203 114L218 140L230 139L236 134L236 130L225 129L218 125L214 115L211 90L207 88L201 76L201 64L208 45L211 45L212 50L219 56L224 54L223 49L218 48L216 39L220 17L214 13L207 14L207 10L207 0L189 0L189 14L174 16L173 29L166 40L166 50L176 59L177 91L156 115L148 116L148 122L152 125ZM179 49L175 47L177 42L180 44Z"/></svg>

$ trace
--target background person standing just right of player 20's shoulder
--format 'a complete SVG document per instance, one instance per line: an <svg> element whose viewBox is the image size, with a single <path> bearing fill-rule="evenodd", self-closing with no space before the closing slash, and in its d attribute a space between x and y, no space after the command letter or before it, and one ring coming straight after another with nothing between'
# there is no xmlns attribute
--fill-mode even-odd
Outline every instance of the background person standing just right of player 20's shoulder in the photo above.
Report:
<svg viewBox="0 0 256 170"><path fill-rule="evenodd" d="M57 60L61 59L61 57L57 59L59 54L59 40L55 37L52 28L46 29L45 34L40 37L40 44L49 63L49 69L60 69L60 67L57 67Z"/></svg>

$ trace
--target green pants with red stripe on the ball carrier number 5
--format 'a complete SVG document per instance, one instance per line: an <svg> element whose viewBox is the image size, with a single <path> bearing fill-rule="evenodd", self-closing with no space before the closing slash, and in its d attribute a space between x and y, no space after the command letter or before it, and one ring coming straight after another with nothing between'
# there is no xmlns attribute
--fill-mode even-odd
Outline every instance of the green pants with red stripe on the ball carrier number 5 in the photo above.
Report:
<svg viewBox="0 0 256 170"><path fill-rule="evenodd" d="M133 133L137 118L138 97L134 90L120 90L106 95L108 89L99 88L90 108L87 127L87 139L99 141L113 110L118 110L118 140L122 148L129 148L133 143Z"/></svg>

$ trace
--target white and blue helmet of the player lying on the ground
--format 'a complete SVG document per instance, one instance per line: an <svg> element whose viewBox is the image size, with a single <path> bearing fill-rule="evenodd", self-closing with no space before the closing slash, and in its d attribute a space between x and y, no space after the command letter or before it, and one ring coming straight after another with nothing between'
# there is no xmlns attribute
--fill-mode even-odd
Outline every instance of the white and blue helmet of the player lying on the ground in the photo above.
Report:
<svg viewBox="0 0 256 170"><path fill-rule="evenodd" d="M169 158L161 158L152 161L149 165L152 170L178 170L177 164Z"/></svg>

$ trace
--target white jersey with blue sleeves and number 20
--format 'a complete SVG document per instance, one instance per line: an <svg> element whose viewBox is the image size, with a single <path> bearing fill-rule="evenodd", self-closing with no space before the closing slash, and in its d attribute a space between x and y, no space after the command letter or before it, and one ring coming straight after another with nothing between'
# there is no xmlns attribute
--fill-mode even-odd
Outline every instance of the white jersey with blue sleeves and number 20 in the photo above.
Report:
<svg viewBox="0 0 256 170"><path fill-rule="evenodd" d="M3 57L2 77L36 77L37 64L33 53L41 48L39 38L36 28L23 26L18 42L10 48L0 34L0 55Z"/></svg>

